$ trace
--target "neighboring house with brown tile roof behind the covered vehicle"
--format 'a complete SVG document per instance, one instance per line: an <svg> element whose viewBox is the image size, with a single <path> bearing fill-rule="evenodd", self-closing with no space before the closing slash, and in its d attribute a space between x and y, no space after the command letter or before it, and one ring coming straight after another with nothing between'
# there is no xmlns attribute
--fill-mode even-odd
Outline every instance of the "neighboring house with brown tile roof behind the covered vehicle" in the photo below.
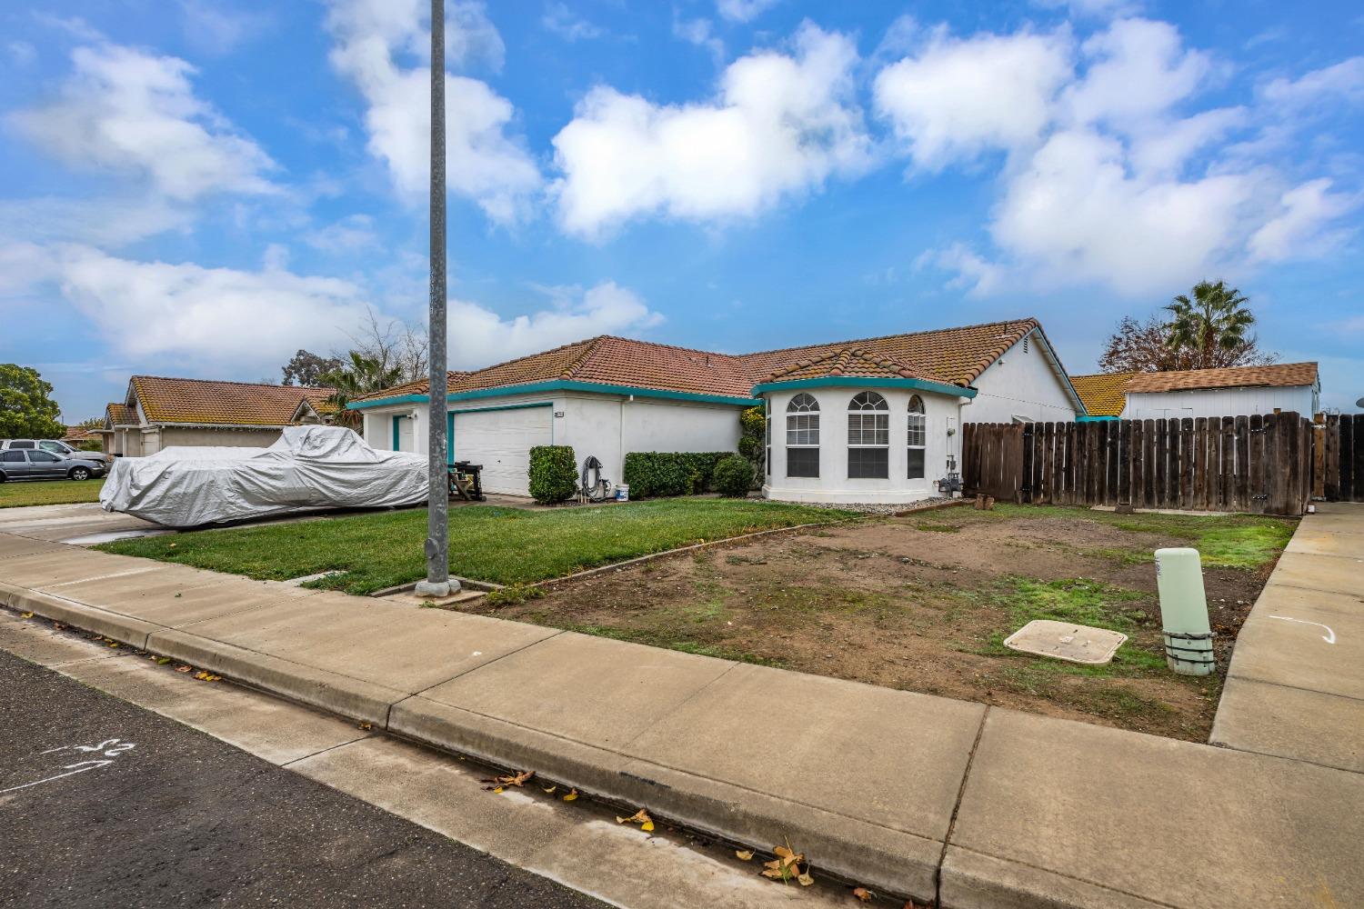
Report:
<svg viewBox="0 0 1364 909"><path fill-rule="evenodd" d="M329 422L331 388L132 376L105 407L104 450L139 457L169 446L266 447L284 427Z"/></svg>

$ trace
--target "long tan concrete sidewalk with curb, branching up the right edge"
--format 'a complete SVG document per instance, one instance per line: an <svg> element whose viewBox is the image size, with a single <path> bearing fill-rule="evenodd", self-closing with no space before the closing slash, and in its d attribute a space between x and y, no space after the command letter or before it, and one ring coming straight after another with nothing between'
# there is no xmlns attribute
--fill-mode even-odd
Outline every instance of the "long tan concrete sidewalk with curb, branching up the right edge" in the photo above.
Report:
<svg viewBox="0 0 1364 909"><path fill-rule="evenodd" d="M1266 597L1293 587L1301 609L1327 602L1357 623L1352 551L1297 552L1345 545L1339 534L1364 540L1364 507L1304 519ZM1243 724L1270 732L1218 748L12 534L0 534L0 597L737 842L790 838L825 872L921 902L1364 905L1364 774L1345 733L1274 732L1254 688ZM1359 626L1338 624L1331 646L1353 646ZM1254 642L1259 626L1247 627ZM1331 653L1345 662L1320 672L1319 691L1258 676L1269 671L1243 666L1239 645L1228 691L1359 706L1359 651ZM1294 735L1309 741L1274 747Z"/></svg>

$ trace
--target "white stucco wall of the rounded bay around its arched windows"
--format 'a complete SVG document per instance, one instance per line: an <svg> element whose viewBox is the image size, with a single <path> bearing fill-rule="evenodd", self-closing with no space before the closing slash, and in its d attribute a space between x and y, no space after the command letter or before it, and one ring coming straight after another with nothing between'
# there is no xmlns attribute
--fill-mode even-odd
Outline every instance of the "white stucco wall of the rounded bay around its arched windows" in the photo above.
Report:
<svg viewBox="0 0 1364 909"><path fill-rule="evenodd" d="M889 470L885 480L848 477L848 403L862 388L827 387L807 388L806 394L820 402L820 476L786 476L786 407L801 390L777 391L768 395L772 417L772 447L768 477L762 495L784 502L858 502L908 503L937 495L937 481L948 473L948 457L960 465L962 398L910 391L900 388L870 388L885 398L889 407ZM923 478L910 480L908 474L908 407L910 397L923 401L926 417ZM952 435L948 435L948 431ZM960 466L956 467L960 470Z"/></svg>

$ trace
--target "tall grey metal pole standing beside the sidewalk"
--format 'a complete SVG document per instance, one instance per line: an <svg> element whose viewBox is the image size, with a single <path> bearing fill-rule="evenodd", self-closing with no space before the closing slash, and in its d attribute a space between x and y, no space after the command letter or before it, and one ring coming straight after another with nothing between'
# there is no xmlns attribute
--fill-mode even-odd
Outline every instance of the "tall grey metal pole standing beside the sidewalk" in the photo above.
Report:
<svg viewBox="0 0 1364 909"><path fill-rule="evenodd" d="M431 383L427 427L427 578L417 582L423 597L446 597L460 589L450 582L450 487L446 466L446 346L445 346L445 0L431 0Z"/></svg>

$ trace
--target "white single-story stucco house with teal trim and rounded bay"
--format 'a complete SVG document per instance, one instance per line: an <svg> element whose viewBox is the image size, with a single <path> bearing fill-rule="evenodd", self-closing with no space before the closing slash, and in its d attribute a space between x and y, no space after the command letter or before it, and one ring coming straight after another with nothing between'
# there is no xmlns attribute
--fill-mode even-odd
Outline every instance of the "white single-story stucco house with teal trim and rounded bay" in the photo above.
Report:
<svg viewBox="0 0 1364 909"><path fill-rule="evenodd" d="M750 354L602 335L451 372L446 402L450 461L510 495L527 493L533 446L573 446L621 482L632 451L734 451L739 413L765 403L764 493L794 502L923 499L960 469L963 422L1084 413L1035 319ZM371 446L426 451L426 382L349 406Z"/></svg>

